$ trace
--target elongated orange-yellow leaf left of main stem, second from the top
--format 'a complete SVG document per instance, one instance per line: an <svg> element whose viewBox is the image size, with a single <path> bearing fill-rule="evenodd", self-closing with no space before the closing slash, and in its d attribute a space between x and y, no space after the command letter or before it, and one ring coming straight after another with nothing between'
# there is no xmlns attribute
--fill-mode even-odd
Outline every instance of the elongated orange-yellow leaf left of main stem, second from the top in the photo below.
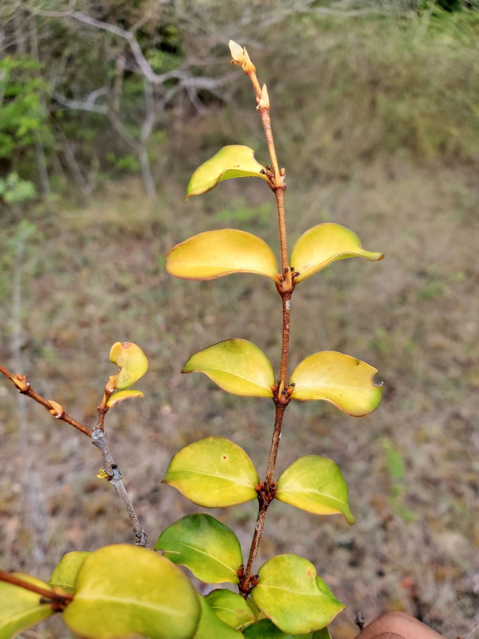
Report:
<svg viewBox="0 0 479 639"><path fill-rule="evenodd" d="M177 244L167 255L165 268L170 275L183 279L257 273L278 281L278 263L268 244L236 229L206 231Z"/></svg>

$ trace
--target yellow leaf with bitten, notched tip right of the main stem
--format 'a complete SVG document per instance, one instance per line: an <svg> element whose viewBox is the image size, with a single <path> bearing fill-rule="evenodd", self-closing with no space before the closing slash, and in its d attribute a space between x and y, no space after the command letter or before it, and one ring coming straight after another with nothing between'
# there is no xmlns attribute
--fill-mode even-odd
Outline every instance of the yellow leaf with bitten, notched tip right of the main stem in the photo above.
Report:
<svg viewBox="0 0 479 639"><path fill-rule="evenodd" d="M362 417L381 403L383 385L376 386L377 370L365 362L336 351L314 353L291 376L293 399L323 399L343 413Z"/></svg>

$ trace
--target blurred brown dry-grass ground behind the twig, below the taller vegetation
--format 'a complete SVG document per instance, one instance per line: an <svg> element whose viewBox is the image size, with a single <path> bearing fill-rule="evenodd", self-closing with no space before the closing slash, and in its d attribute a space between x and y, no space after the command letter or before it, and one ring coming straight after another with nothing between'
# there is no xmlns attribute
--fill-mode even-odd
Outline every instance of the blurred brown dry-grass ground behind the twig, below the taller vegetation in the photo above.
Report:
<svg viewBox="0 0 479 639"><path fill-rule="evenodd" d="M160 486L171 455L185 443L224 435L245 447L260 474L266 465L270 403L228 396L178 371L193 351L231 336L252 339L277 365L275 290L254 276L176 281L162 268L172 243L205 228L238 224L277 247L272 206L255 208L270 196L261 186L229 182L188 206L170 189L158 215L138 206L129 183L86 210L43 211L27 247L22 357L34 387L93 424L111 372L110 344L129 339L149 355L141 384L146 399L121 404L107 427L153 539L197 510ZM385 391L379 410L359 420L321 403L289 408L278 470L308 453L335 459L358 523L349 528L340 518L275 504L259 560L284 551L311 558L347 604L335 624L338 637L354 635L358 608L367 619L386 609L421 613L446 636L466 633L479 574L474 175L369 167L348 182L328 181L302 194L292 183L287 195L291 240L333 219L358 231L365 247L386 252L382 263L340 262L298 287L291 364L323 348L351 353L379 369ZM8 299L1 323L11 326ZM10 364L7 331L2 339ZM2 563L46 577L65 551L128 539L125 513L96 479L100 459L86 438L30 404L22 430L15 392L5 385L0 392ZM33 509L31 481L39 484ZM236 530L246 552L255 505L215 515Z"/></svg>

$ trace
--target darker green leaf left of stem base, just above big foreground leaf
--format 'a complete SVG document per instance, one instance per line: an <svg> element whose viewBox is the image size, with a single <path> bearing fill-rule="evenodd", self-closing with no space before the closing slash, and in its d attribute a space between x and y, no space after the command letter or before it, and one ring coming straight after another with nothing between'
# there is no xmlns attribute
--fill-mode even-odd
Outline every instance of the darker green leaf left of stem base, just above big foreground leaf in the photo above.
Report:
<svg viewBox="0 0 479 639"><path fill-rule="evenodd" d="M238 537L211 515L186 515L176 521L163 530L155 550L188 567L204 583L239 583L243 555Z"/></svg>

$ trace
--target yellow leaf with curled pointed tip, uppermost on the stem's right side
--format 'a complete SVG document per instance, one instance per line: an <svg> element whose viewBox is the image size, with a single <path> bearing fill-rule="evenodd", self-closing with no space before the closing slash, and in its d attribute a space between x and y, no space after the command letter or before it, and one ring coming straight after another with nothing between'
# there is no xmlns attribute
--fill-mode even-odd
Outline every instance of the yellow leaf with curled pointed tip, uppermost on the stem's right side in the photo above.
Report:
<svg viewBox="0 0 479 639"><path fill-rule="evenodd" d="M290 264L300 273L294 282L298 284L338 259L354 257L374 262L383 259L384 253L364 250L356 233L340 224L318 224L303 233L294 244Z"/></svg>

